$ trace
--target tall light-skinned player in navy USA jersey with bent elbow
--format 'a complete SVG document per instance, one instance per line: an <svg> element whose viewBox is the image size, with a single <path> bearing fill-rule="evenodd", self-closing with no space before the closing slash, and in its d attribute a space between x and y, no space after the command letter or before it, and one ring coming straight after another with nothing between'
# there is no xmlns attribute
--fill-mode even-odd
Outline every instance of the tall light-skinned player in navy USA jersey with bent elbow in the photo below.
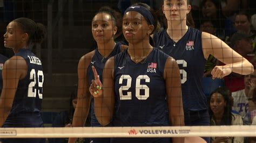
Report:
<svg viewBox="0 0 256 143"><path fill-rule="evenodd" d="M190 13L189 0L164 0L163 12L167 30L153 35L156 47L177 60L180 68L185 125L210 125L207 99L203 92L205 62L211 54L225 66L215 66L212 78L223 78L231 72L247 75L253 66L212 34L186 25ZM210 142L210 138L205 138Z"/></svg>

